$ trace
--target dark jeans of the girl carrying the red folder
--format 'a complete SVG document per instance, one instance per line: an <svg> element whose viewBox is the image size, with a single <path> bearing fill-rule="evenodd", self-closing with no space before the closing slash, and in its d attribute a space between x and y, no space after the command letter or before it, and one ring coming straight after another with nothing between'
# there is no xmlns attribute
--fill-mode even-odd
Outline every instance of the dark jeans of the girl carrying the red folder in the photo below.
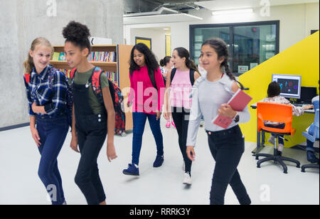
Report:
<svg viewBox="0 0 320 219"><path fill-rule="evenodd" d="M220 132L208 132L210 151L215 159L210 191L210 205L223 205L228 184L233 188L241 205L251 203L237 170L245 151L245 139L239 126Z"/></svg>

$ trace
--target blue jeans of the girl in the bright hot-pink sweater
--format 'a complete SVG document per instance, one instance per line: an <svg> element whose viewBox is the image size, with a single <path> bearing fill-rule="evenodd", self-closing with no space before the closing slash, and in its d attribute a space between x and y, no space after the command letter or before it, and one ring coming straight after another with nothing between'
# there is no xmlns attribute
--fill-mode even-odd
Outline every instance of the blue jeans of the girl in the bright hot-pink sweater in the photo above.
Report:
<svg viewBox="0 0 320 219"><path fill-rule="evenodd" d="M142 136L146 125L146 118L149 120L151 132L156 140L156 154L164 155L164 139L161 133L160 119L156 120L155 114L144 112L133 112L133 139L132 139L132 164L139 165L139 156L142 147Z"/></svg>

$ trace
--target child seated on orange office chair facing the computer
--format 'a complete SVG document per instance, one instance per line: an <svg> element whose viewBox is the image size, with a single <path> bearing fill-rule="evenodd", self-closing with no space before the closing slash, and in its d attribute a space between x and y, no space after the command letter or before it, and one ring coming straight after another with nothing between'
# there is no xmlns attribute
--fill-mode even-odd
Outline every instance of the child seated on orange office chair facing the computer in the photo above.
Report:
<svg viewBox="0 0 320 219"><path fill-rule="evenodd" d="M313 105L306 105L304 107L296 107L292 105L289 100L287 100L284 97L280 97L280 92L281 92L281 87L277 82L271 82L268 90L267 90L267 97L262 100L262 102L274 102L274 103L279 103L279 104L284 104L284 105L291 105L292 106L292 114L294 116L299 117L300 115L304 114L304 110L309 110L313 108ZM265 121L265 126L266 127L272 127L272 128L277 128L277 129L284 129L285 124L280 123L280 122L271 122L271 121ZM282 151L284 147L284 140L282 139L283 135L279 137L279 144L278 144L278 155L282 156ZM268 141L270 144L274 145L274 135L272 134L270 139Z"/></svg>

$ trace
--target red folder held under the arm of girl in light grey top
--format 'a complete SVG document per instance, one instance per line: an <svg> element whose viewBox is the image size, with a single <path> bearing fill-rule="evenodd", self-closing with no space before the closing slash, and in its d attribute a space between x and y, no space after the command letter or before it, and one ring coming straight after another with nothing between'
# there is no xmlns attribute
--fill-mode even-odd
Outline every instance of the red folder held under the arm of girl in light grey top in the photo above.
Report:
<svg viewBox="0 0 320 219"><path fill-rule="evenodd" d="M228 105L230 105L235 111L243 111L245 107L252 100L252 97L247 95L244 91L239 89L233 97L228 101ZM233 122L233 119L229 117L223 117L219 114L212 120L213 124L218 125L219 127L223 127L223 129L227 129L230 124Z"/></svg>

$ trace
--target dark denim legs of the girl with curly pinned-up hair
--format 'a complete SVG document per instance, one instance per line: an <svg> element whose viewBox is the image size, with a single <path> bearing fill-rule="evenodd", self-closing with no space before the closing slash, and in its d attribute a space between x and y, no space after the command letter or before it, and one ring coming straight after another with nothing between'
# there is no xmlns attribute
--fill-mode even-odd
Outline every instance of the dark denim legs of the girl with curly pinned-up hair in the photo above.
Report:
<svg viewBox="0 0 320 219"><path fill-rule="evenodd" d="M97 157L107 137L107 119L98 115L80 116L76 119L76 131L81 158L75 183L85 195L88 205L99 205L105 201L106 196L99 176Z"/></svg>

